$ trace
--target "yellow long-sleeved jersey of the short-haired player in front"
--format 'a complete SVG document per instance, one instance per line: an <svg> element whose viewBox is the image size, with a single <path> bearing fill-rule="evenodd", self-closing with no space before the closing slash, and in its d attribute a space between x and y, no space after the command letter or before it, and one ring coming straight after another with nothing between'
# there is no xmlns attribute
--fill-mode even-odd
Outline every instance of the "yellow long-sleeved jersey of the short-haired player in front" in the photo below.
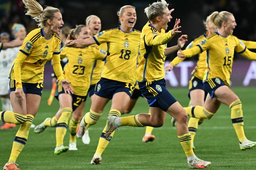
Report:
<svg viewBox="0 0 256 170"><path fill-rule="evenodd" d="M136 80L156 81L163 79L165 50L168 41L172 39L171 32L158 32L150 21L144 25L140 35L140 63L136 69Z"/></svg>

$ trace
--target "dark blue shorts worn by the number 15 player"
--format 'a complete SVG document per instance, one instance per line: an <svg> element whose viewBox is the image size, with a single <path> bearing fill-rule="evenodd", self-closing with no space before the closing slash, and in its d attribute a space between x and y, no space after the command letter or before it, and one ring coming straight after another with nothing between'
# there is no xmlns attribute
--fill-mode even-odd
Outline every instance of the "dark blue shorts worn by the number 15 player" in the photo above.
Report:
<svg viewBox="0 0 256 170"><path fill-rule="evenodd" d="M220 86L226 86L226 84L220 78L209 78L206 81L203 81L203 86L205 87L205 90L210 94L211 98L213 98L214 91Z"/></svg>

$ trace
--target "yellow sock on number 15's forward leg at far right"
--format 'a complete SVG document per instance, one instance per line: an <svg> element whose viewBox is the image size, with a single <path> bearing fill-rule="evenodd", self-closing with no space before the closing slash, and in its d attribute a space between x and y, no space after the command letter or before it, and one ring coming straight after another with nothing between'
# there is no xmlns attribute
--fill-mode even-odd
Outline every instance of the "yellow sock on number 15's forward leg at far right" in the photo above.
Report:
<svg viewBox="0 0 256 170"><path fill-rule="evenodd" d="M231 120L233 127L236 131L236 135L238 137L239 142L244 142L245 137L244 134L244 118L243 118L243 110L242 110L242 102L238 99L232 104L230 104L229 108L231 109Z"/></svg>

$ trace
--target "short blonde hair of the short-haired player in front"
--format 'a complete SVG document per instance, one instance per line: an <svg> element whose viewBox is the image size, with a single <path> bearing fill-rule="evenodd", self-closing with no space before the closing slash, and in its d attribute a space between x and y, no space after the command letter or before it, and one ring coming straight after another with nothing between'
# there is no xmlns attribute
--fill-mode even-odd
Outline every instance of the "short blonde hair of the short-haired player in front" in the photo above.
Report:
<svg viewBox="0 0 256 170"><path fill-rule="evenodd" d="M148 5L148 7L144 9L144 12L146 13L148 19L154 22L156 17L163 16L164 11L167 7L167 2L165 0L161 0Z"/></svg>

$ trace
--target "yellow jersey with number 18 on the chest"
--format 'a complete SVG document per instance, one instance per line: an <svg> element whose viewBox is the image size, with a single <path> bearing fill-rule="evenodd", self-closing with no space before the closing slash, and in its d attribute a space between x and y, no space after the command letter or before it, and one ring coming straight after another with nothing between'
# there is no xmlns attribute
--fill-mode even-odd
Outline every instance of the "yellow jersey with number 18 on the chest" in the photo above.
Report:
<svg viewBox="0 0 256 170"><path fill-rule="evenodd" d="M135 84L136 59L140 46L140 31L124 32L121 26L93 36L98 45L107 43L108 55L101 77Z"/></svg>

